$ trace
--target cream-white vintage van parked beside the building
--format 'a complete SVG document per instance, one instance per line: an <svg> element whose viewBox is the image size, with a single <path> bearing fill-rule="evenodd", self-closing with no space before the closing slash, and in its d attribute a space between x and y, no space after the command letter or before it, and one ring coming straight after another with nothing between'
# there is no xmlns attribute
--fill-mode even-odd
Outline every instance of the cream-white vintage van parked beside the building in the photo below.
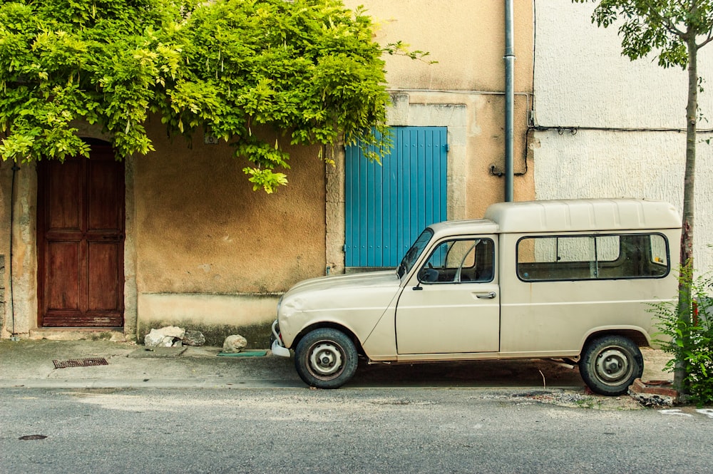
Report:
<svg viewBox="0 0 713 474"><path fill-rule="evenodd" d="M272 352L310 386L370 363L565 359L625 393L677 294L681 220L666 202L503 202L426 227L395 271L309 279L280 299Z"/></svg>

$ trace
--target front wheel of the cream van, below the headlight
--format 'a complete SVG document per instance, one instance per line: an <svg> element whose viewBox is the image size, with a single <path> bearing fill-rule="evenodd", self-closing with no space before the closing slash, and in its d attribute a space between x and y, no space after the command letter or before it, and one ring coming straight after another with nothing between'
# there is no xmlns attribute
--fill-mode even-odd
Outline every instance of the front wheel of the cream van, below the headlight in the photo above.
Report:
<svg viewBox="0 0 713 474"><path fill-rule="evenodd" d="M339 388L354 376L358 364L354 342L337 329L315 329L294 349L299 378L312 387Z"/></svg>

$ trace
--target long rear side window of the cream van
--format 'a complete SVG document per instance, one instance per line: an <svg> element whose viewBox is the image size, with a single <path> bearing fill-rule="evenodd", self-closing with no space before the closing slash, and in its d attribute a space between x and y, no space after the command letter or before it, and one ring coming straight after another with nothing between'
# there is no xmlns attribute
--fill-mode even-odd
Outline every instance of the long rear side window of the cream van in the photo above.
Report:
<svg viewBox="0 0 713 474"><path fill-rule="evenodd" d="M662 278L669 246L661 234L523 237L517 267L525 282Z"/></svg>

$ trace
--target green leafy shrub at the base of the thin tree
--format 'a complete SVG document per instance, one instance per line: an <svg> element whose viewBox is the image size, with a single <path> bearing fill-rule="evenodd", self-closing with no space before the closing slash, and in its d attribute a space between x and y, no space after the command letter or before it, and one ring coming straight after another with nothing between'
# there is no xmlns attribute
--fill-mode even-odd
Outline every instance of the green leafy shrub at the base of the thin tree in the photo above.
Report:
<svg viewBox="0 0 713 474"><path fill-rule="evenodd" d="M690 287L692 295L680 292L684 304L664 302L652 306L657 314L657 327L665 337L658 342L662 349L673 356L666 369L674 371L676 364L683 364L682 380L684 393L699 406L713 403L713 277L694 279L683 269L681 278ZM681 314L680 307L686 308Z"/></svg>

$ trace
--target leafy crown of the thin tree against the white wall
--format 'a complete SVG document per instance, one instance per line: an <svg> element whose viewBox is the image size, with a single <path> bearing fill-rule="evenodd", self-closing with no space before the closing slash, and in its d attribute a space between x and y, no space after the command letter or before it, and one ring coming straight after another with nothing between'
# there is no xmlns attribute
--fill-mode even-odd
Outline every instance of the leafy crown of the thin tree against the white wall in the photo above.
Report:
<svg viewBox="0 0 713 474"><path fill-rule="evenodd" d="M585 3L588 0L573 0ZM600 0L592 15L597 26L619 26L622 54L638 59L656 53L660 66L686 68L686 38L702 36L698 47L711 40L713 1Z"/></svg>

